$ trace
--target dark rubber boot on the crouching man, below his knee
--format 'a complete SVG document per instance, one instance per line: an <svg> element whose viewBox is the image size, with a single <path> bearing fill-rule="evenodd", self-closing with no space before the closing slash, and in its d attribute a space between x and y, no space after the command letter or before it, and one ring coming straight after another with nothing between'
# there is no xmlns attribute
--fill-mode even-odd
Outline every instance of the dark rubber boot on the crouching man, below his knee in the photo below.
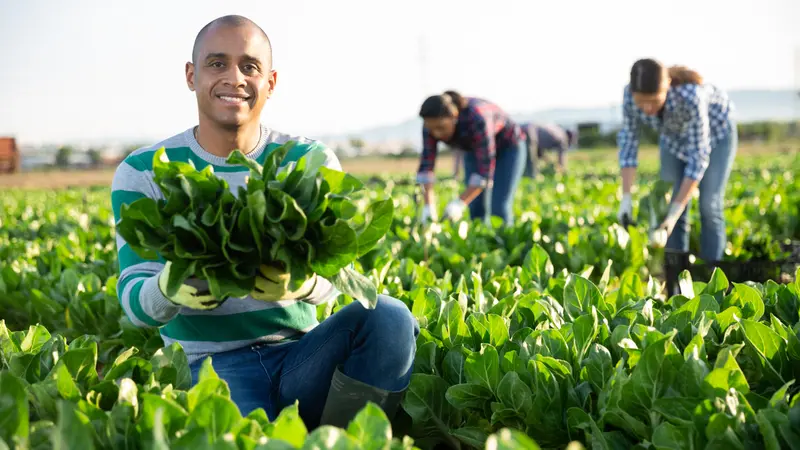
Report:
<svg viewBox="0 0 800 450"><path fill-rule="evenodd" d="M366 405L372 402L378 405L391 422L405 390L390 392L348 377L337 367L331 380L328 399L322 410L320 425L332 425L346 429Z"/></svg>

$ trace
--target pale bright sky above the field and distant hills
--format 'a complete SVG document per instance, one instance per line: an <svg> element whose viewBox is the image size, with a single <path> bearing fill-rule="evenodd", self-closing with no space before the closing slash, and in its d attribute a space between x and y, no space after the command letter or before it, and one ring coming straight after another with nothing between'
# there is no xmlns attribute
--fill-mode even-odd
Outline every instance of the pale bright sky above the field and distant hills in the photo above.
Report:
<svg viewBox="0 0 800 450"><path fill-rule="evenodd" d="M445 89L512 113L617 104L641 57L725 89L800 89L797 0L493 2L0 0L0 135L160 140L193 126L184 65L226 14L272 41L264 123L311 137L407 120Z"/></svg>

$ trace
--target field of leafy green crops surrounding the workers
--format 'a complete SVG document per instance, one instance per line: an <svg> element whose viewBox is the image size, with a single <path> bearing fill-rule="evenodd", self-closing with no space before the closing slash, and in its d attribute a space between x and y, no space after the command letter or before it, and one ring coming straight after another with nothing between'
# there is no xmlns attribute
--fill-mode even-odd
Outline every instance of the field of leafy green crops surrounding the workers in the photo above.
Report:
<svg viewBox="0 0 800 450"><path fill-rule="evenodd" d="M422 328L393 438L377 408L309 431L294 407L242 417L210 366L191 387L182 350L119 306L109 189L4 190L0 448L800 448L797 273L684 274L667 298L645 208L637 228L615 222L614 163L526 180L504 229L423 229L410 176L364 178L395 218L357 268ZM665 200L654 169L635 200ZM798 174L796 155L737 160L727 259L780 259L800 240ZM458 188L441 186L441 206Z"/></svg>

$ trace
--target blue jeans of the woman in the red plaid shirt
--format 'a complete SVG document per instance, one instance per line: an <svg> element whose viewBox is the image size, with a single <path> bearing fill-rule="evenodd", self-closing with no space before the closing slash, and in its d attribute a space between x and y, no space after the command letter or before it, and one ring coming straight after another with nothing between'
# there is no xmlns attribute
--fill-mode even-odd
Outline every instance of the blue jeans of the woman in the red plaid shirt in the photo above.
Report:
<svg viewBox="0 0 800 450"><path fill-rule="evenodd" d="M493 186L487 188L469 204L471 219L488 220L489 216L503 219L504 224L514 223L514 194L525 171L528 145L521 139L516 147L497 149ZM474 152L464 154L464 179L478 171L478 160ZM491 214L488 214L491 212Z"/></svg>

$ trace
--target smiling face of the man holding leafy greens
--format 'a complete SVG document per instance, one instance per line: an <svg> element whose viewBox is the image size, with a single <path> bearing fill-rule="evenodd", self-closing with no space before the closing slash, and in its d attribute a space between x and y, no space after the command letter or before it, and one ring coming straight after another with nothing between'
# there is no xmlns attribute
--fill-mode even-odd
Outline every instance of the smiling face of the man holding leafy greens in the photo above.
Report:
<svg viewBox="0 0 800 450"><path fill-rule="evenodd" d="M277 74L261 32L248 25L214 26L203 37L186 83L195 91L200 115L222 128L259 121Z"/></svg>

